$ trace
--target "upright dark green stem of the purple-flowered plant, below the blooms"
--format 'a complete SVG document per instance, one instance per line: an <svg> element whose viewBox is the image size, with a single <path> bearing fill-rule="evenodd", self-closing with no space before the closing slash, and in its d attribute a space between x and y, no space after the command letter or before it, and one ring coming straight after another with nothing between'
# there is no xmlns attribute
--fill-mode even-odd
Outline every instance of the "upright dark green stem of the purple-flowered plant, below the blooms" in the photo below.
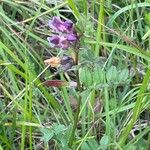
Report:
<svg viewBox="0 0 150 150"><path fill-rule="evenodd" d="M75 53L75 64L78 65L78 57L79 57L79 52ZM80 84L80 77L79 77L79 70L76 71L76 81L77 81L77 89L79 92L82 91L81 88L81 84ZM70 140L69 140L69 144L68 146L71 147L75 138L75 131L78 125L78 121L79 121L79 113L80 113L80 105L81 105L81 95L79 93L79 97L78 97L78 108L74 117L74 125L73 125L73 129L71 132L71 136L70 136Z"/></svg>

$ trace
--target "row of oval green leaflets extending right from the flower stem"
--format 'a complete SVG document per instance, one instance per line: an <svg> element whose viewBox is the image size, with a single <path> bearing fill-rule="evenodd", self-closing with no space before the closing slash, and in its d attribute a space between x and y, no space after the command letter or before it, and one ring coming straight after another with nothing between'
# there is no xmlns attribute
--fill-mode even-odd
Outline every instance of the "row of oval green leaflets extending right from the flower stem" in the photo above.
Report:
<svg viewBox="0 0 150 150"><path fill-rule="evenodd" d="M107 71L104 71L99 65L95 64L92 67L83 67L80 71L80 79L85 87L94 85L104 85L104 79L107 79L108 86L119 86L130 82L129 70L117 70L115 66L111 66Z"/></svg>

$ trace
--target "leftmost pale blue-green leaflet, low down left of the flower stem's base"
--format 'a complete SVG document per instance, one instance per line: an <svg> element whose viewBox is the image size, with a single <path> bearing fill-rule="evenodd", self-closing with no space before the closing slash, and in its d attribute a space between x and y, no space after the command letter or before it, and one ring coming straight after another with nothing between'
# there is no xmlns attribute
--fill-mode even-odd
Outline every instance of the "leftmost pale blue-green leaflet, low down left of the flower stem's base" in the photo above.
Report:
<svg viewBox="0 0 150 150"><path fill-rule="evenodd" d="M54 131L52 129L43 128L41 132L44 134L41 140L45 142L48 142L54 136Z"/></svg>

